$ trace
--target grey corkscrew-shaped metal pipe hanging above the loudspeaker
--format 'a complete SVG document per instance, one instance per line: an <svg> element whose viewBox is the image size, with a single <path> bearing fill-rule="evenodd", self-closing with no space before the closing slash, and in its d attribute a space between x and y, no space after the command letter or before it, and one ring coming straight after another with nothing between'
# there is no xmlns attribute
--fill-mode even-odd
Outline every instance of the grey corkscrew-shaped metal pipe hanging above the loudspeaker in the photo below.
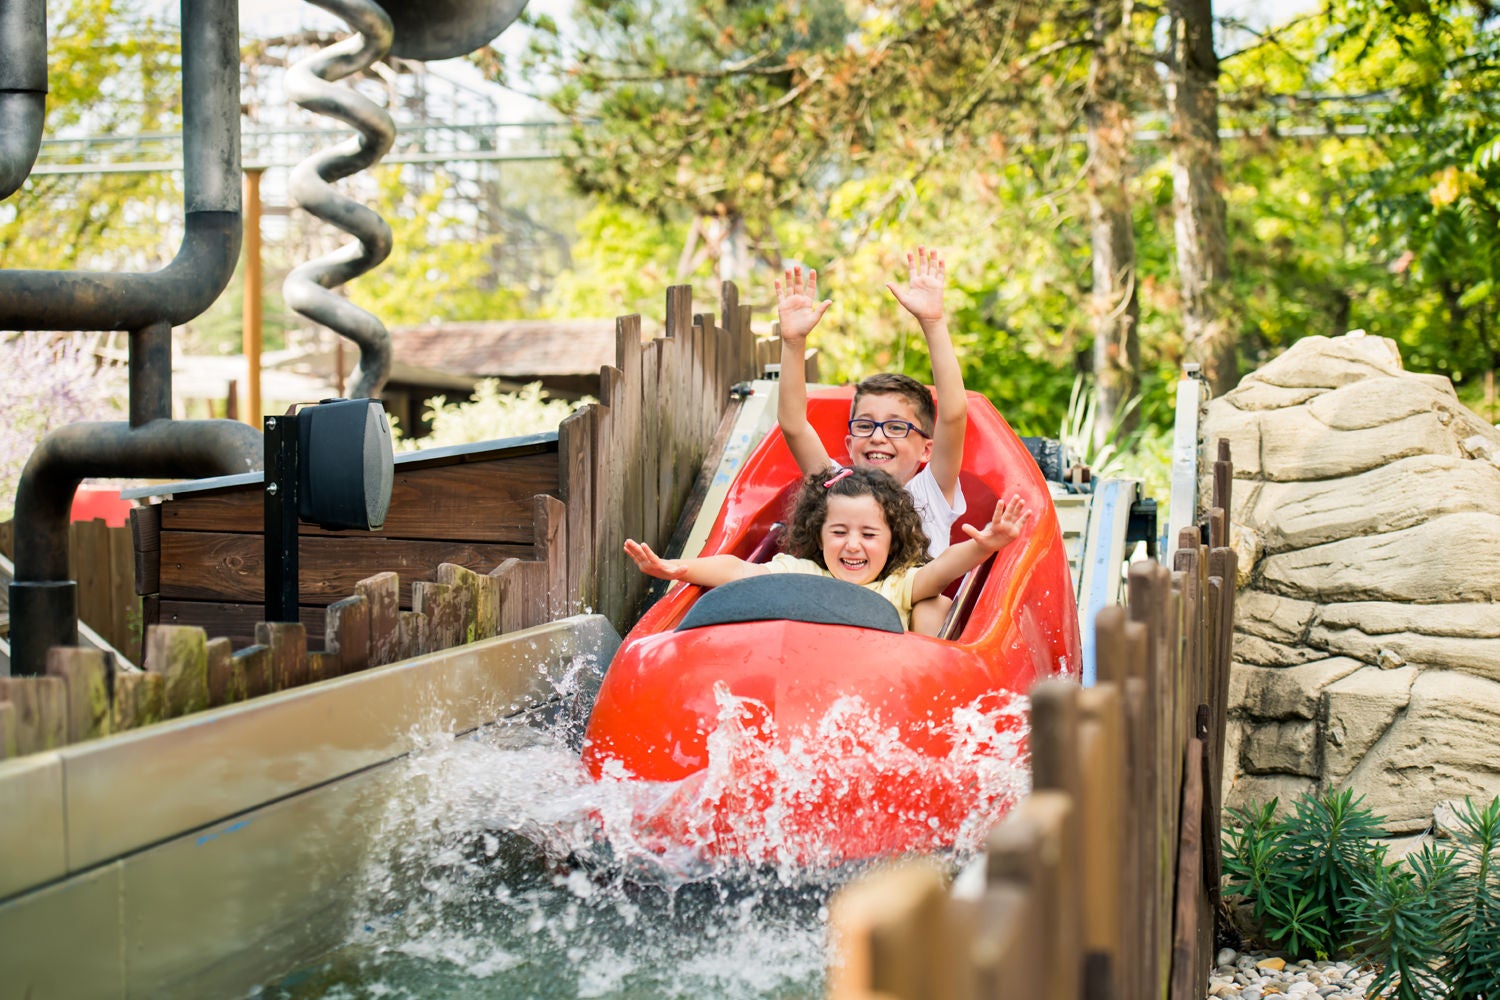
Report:
<svg viewBox="0 0 1500 1000"><path fill-rule="evenodd" d="M370 0L308 0L342 18L358 31L286 70L286 96L297 105L348 126L358 135L314 153L291 172L291 196L318 219L354 235L333 253L292 270L282 283L286 306L320 322L360 348L348 396L375 396L390 376L390 333L372 313L333 294L333 288L358 277L390 256L390 226L375 211L339 193L333 181L376 163L390 150L396 126L390 115L350 87L334 85L370 66L390 51L392 19Z"/></svg>

